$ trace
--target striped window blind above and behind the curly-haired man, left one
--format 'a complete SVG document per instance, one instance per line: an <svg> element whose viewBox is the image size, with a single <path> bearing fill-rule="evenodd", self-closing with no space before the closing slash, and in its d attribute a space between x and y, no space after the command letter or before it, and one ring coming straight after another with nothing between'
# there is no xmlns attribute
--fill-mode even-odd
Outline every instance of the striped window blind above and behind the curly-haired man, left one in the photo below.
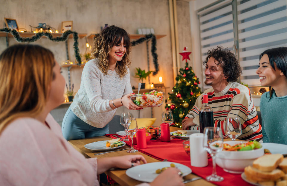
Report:
<svg viewBox="0 0 287 186"><path fill-rule="evenodd" d="M210 8L209 12L200 13L199 29L201 44L201 62L207 56L207 51L217 46L232 50L234 45L233 8L230 1L221 7ZM202 65L202 79L205 81L204 66ZM204 85L204 89L210 86Z"/></svg>

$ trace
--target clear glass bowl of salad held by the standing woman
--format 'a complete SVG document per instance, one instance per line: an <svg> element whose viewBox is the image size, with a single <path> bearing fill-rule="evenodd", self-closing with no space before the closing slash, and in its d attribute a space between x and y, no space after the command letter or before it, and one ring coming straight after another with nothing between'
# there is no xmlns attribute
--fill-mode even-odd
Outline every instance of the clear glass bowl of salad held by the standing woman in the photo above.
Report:
<svg viewBox="0 0 287 186"><path fill-rule="evenodd" d="M150 92L130 96L139 107L157 107L164 103L164 92Z"/></svg>

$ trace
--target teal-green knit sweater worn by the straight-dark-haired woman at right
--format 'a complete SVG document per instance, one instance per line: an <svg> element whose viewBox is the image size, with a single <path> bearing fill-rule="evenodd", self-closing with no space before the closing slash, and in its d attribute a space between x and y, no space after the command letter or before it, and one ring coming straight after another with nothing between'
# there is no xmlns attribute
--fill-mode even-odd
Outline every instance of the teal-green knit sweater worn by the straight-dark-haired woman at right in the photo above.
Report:
<svg viewBox="0 0 287 186"><path fill-rule="evenodd" d="M265 92L260 99L263 143L287 145L287 96L277 97L274 91L269 98Z"/></svg>

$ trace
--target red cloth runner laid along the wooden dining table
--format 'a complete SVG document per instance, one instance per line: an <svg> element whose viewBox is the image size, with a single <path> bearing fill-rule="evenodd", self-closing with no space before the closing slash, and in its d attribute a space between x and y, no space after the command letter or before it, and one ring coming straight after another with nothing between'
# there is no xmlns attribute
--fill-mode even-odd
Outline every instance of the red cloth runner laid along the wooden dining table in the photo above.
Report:
<svg viewBox="0 0 287 186"><path fill-rule="evenodd" d="M106 134L105 136L115 138L115 134ZM120 138L123 136L116 135ZM190 156L184 151L183 140L175 138L170 140L170 142L161 142L160 138L158 140L150 140L147 142L146 149L138 149L136 145L134 148L138 151L147 154L155 159L164 160L167 159L171 162L181 163L191 168L192 173L205 179L206 176L211 175L212 173L212 159L208 160L208 165L206 167L193 167L190 165ZM131 145L130 141L126 141L127 145ZM222 182L212 182L215 185L240 185L240 186L251 186L251 184L245 182L240 174L231 174L225 172L221 167L216 165L216 171L219 176L222 176L224 180Z"/></svg>

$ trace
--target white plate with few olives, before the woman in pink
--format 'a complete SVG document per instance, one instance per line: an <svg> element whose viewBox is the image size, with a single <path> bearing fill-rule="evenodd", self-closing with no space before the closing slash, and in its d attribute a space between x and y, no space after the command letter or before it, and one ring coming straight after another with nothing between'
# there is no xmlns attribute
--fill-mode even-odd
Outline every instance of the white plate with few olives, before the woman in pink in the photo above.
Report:
<svg viewBox="0 0 287 186"><path fill-rule="evenodd" d="M191 169L189 167L180 163L153 162L129 168L128 170L126 170L126 175L141 182L152 182L159 175L156 174L155 171L164 167L170 167L171 163L175 164L175 167L181 170L183 176L186 176L191 173Z"/></svg>

